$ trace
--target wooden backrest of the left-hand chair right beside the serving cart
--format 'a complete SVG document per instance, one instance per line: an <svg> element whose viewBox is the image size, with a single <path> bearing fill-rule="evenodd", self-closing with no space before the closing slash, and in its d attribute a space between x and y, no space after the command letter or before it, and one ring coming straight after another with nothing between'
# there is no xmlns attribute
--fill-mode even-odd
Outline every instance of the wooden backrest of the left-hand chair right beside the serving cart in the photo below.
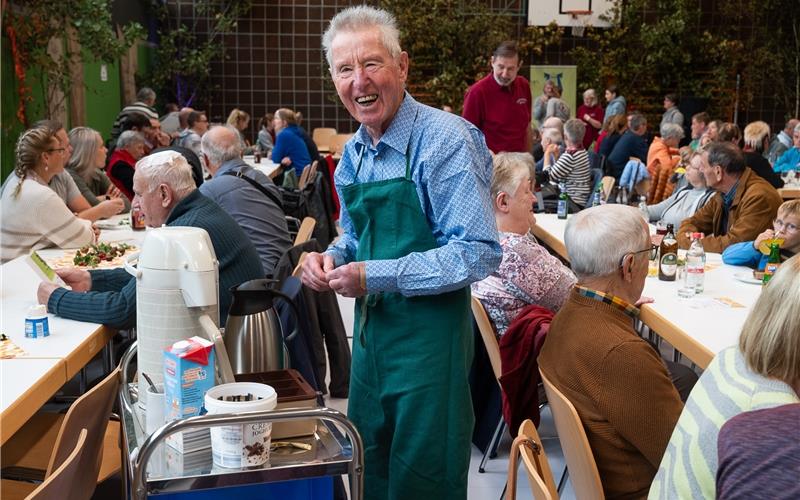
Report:
<svg viewBox="0 0 800 500"><path fill-rule="evenodd" d="M97 475L103 459L103 440L108 419L111 417L111 408L119 392L119 373L119 368L115 369L90 391L75 400L58 431L45 478L50 477L75 449L81 429L88 431L86 448L80 459L81 478L84 481L72 486L72 489L79 493L77 498L90 498L97 485Z"/></svg>

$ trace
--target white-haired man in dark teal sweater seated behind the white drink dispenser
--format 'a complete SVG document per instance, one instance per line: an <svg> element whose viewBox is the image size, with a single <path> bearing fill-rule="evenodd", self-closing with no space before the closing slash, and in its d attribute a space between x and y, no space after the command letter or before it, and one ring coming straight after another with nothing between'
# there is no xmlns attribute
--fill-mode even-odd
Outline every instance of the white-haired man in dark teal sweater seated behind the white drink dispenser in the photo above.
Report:
<svg viewBox="0 0 800 500"><path fill-rule="evenodd" d="M197 190L192 169L175 151L154 153L136 164L133 176L139 207L149 227L190 226L205 229L219 261L219 317L225 325L230 287L263 277L255 247L228 214ZM72 291L50 282L37 297L50 313L63 318L130 328L136 322L136 279L125 269L60 269Z"/></svg>

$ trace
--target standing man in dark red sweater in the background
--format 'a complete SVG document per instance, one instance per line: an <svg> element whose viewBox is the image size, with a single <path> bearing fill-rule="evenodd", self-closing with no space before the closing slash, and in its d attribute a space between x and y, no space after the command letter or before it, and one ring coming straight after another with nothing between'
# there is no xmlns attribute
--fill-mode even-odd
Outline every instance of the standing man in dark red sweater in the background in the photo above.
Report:
<svg viewBox="0 0 800 500"><path fill-rule="evenodd" d="M492 55L492 73L464 95L462 116L481 129L494 153L531 151L531 86L517 75L520 67L516 42L503 42Z"/></svg>

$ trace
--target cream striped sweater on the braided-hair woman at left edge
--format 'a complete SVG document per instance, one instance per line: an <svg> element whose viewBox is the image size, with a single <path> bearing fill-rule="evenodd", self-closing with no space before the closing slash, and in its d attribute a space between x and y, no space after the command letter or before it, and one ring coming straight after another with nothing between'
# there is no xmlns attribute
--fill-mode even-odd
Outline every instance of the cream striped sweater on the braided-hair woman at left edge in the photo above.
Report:
<svg viewBox="0 0 800 500"><path fill-rule="evenodd" d="M77 218L35 174L28 174L19 195L14 197L19 182L19 177L11 174L3 186L0 261L7 262L39 248L78 248L94 241L92 223Z"/></svg>

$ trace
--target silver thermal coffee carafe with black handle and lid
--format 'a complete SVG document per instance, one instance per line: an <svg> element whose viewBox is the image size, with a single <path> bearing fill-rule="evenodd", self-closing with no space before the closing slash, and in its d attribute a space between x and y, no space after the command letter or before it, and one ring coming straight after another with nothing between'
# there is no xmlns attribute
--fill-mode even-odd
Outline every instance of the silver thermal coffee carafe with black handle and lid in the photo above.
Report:
<svg viewBox="0 0 800 500"><path fill-rule="evenodd" d="M273 299L286 301L299 324L299 314L294 301L275 290L278 282L271 279L246 281L230 289L231 308L225 324L225 348L233 372L261 373L289 368L289 352L284 338L290 341L297 335L297 326L284 337Z"/></svg>

